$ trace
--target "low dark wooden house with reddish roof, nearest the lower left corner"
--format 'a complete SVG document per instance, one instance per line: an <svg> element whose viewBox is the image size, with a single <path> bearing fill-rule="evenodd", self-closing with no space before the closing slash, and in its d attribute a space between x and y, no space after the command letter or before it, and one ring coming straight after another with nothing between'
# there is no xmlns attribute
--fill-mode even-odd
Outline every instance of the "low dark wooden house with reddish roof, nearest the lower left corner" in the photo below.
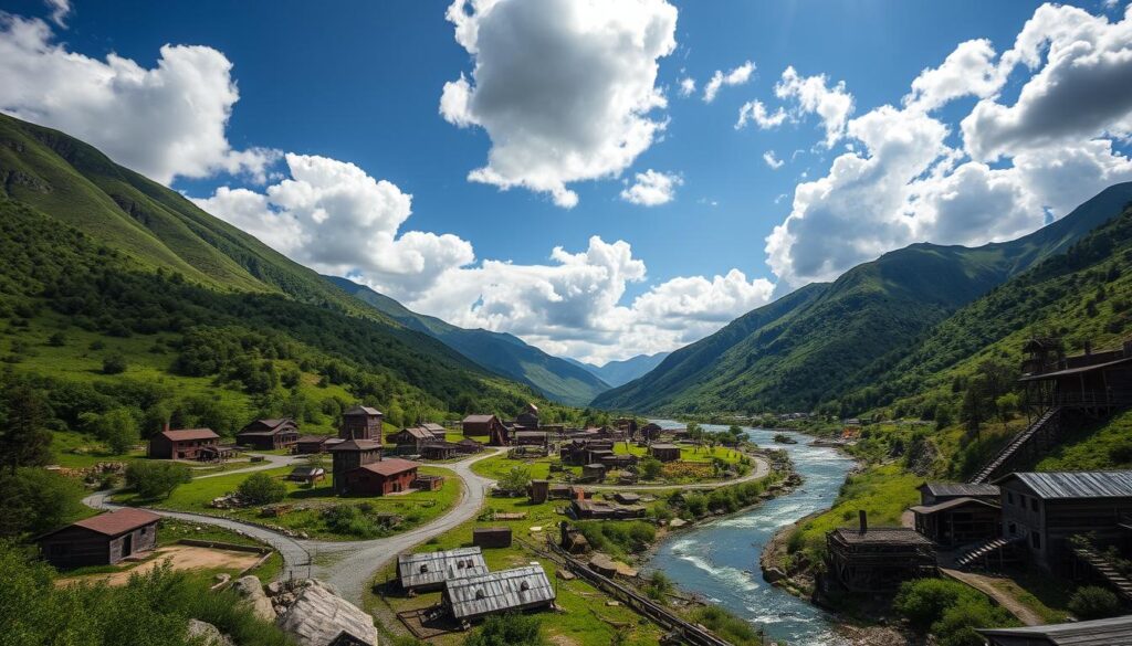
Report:
<svg viewBox="0 0 1132 646"><path fill-rule="evenodd" d="M112 566L157 545L161 516L125 508L84 518L36 539L43 558L60 569Z"/></svg>

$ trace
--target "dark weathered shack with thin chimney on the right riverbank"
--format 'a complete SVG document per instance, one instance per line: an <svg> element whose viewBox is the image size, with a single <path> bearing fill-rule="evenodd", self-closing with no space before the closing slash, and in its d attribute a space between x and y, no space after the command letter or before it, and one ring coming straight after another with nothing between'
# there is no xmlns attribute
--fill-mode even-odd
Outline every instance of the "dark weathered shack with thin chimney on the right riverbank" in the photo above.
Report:
<svg viewBox="0 0 1132 646"><path fill-rule="evenodd" d="M826 572L850 592L886 592L901 583L935 576L932 541L907 527L860 526L825 535Z"/></svg>

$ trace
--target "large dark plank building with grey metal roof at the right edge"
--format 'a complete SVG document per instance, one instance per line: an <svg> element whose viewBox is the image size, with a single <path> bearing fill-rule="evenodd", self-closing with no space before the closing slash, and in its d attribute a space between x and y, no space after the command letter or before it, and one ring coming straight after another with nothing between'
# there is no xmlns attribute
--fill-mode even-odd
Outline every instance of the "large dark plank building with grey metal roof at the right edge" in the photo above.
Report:
<svg viewBox="0 0 1132 646"><path fill-rule="evenodd" d="M1089 534L1098 546L1129 539L1132 471L1012 473L995 481L1002 491L1002 536L1024 542L1030 559L1056 569L1069 565L1066 544Z"/></svg>

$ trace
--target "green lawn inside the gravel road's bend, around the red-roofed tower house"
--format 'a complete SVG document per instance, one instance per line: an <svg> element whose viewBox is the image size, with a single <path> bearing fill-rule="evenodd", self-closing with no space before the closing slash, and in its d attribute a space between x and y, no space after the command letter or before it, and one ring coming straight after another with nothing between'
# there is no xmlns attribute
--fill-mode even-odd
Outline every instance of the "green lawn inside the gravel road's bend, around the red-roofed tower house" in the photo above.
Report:
<svg viewBox="0 0 1132 646"><path fill-rule="evenodd" d="M317 483L314 488L284 481L286 485L286 498L281 505L302 506L309 509L293 510L282 516L263 517L259 507L246 509L214 509L209 507L212 500L226 493L235 491L237 486L246 480L249 473L233 473L216 477L197 479L190 483L180 485L173 494L165 500L156 502L143 502L134 494L126 492L117 497L117 500L126 505L152 505L164 509L178 511L191 511L195 514L206 514L211 516L224 516L239 520L248 520L272 526L280 526L292 532L305 532L309 536L325 540L355 540L358 536L338 534L332 531L321 516L321 509L332 505L361 505L367 503L372 507L374 513L396 514L403 522L389 534L405 532L423 525L434 518L452 509L460 498L463 484L456 477L451 477L451 472L440 468L422 467L421 473L434 475L448 475L439 491L413 491L398 496L379 497L349 497L338 498L333 494L331 477ZM261 473L267 473L274 477L282 477L291 472L291 467L273 468Z"/></svg>

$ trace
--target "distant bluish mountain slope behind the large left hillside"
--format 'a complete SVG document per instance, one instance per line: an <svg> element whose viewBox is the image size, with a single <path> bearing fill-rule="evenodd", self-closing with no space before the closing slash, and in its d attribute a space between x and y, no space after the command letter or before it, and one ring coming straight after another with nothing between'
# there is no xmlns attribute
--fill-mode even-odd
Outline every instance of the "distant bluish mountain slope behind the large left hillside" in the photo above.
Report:
<svg viewBox="0 0 1132 646"><path fill-rule="evenodd" d="M608 384L584 368L549 355L513 335L456 327L436 317L413 312L348 278L325 278L406 328L430 335L488 370L526 384L555 402L585 406L609 389Z"/></svg>

